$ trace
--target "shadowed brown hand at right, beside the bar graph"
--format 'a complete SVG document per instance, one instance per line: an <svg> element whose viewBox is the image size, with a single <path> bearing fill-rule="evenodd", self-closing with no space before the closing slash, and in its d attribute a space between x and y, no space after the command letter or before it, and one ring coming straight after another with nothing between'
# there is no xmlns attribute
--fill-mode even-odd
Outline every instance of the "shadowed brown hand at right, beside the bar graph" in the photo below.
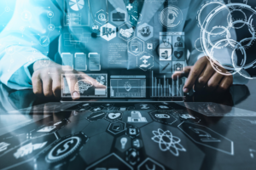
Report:
<svg viewBox="0 0 256 170"><path fill-rule="evenodd" d="M224 70L224 68L219 68ZM191 88L196 92L206 90L207 92L223 93L233 83L233 77L219 74L212 68L207 57L202 57L196 61L194 66L186 66L184 71L176 71L172 75L173 80L181 77L188 77L183 87L184 93L189 93Z"/></svg>

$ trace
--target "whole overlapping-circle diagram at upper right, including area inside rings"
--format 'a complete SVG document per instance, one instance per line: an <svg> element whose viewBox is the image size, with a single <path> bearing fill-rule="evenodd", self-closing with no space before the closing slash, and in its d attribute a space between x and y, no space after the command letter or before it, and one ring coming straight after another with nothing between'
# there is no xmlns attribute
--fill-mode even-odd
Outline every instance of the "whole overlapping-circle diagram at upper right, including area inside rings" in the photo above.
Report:
<svg viewBox="0 0 256 170"><path fill-rule="evenodd" d="M256 11L251 6L208 2L201 6L197 20L201 28L198 39L201 50L195 48L205 53L215 71L225 76L238 73L248 79L256 78L256 75L247 73L254 68L256 73L256 57L248 55L256 48L253 27Z"/></svg>

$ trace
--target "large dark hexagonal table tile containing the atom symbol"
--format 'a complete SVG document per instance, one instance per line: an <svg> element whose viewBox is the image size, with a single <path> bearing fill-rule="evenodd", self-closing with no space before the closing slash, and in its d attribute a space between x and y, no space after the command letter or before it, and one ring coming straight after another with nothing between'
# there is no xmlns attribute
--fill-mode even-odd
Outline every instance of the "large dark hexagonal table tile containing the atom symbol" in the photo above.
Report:
<svg viewBox="0 0 256 170"><path fill-rule="evenodd" d="M205 158L204 152L176 127L152 122L140 130L148 157L170 169L201 168Z"/></svg>

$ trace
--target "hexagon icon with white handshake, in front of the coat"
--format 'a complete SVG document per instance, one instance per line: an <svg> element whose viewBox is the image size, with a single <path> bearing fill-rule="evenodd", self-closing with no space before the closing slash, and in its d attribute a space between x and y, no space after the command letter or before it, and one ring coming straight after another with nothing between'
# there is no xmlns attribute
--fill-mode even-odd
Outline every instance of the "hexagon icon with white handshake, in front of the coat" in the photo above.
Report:
<svg viewBox="0 0 256 170"><path fill-rule="evenodd" d="M122 38L125 41L131 40L135 35L135 32L128 22L123 24L122 26L119 26L119 38Z"/></svg>

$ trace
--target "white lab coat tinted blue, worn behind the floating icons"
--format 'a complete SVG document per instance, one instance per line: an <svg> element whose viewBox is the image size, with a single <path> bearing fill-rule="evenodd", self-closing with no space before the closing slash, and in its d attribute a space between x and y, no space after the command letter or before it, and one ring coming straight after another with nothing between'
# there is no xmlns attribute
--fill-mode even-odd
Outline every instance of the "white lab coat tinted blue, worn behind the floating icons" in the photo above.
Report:
<svg viewBox="0 0 256 170"><path fill-rule="evenodd" d="M92 26L93 18L90 16L90 21L88 21L88 26L81 27L72 27L72 26L63 26L61 25L63 21L63 11L64 3L67 0L45 0L45 1L29 1L22 0L17 1L15 6L15 14L13 18L9 21L8 26L0 34L0 81L9 86L9 88L14 89L24 89L32 88L31 74L28 71L28 66L32 65L38 59L46 59L49 46L43 47L40 45L39 38L42 36L49 37L50 42L53 41L56 37L59 37L59 54L61 53L70 53L74 49L76 52L84 52L86 54L90 52L95 52L99 48L102 51L108 50L106 42L102 38L91 38L90 33ZM110 8L122 8L126 10L125 3L122 0L108 0L108 6ZM178 3L173 3L173 5L180 8L183 12L182 23L174 29L167 31L184 31L185 32L185 46L189 51L187 65L194 65L197 59L201 58L205 54L198 51L195 48L195 40L200 37L201 29L197 25L196 15L197 11L201 7L202 3L206 3L206 0L184 0L178 1ZM68 2L67 2L68 3ZM92 14L95 14L98 8L106 8L105 0L95 0L90 1ZM154 37L152 42L159 45L159 32L163 31L163 27L159 22L159 10L163 8L163 1L157 2L145 1L143 5L143 10L139 22L141 24L148 23L151 26L154 26ZM57 5L56 5L57 4ZM86 0L85 0L85 4ZM21 20L20 15L23 11L29 11L32 14L32 18L29 21ZM54 12L54 17L49 19L47 14L49 11ZM109 11L110 12L110 11ZM90 14L90 12L85 10L82 14ZM128 17L128 16L127 16ZM86 17L85 17L86 18ZM85 19L84 19L85 20ZM128 18L126 20L129 20ZM222 20L216 20L216 26L221 25ZM55 30L49 31L49 24L54 24ZM61 26L61 29L60 27ZM24 27L25 31L21 28ZM83 31L83 33L77 33L76 31ZM81 36L84 36L84 42L80 43L80 46L65 47L65 33L67 32L70 35L73 35L74 39L79 39ZM232 33L232 32L231 32ZM234 32L233 32L234 34ZM117 39L117 37L115 38ZM115 41L118 42L119 40ZM6 53L6 48L13 47L15 48L14 54ZM97 47L97 48L96 48ZM37 53L34 53L35 50ZM154 55L157 55L155 50ZM231 52L226 51L225 56L230 56ZM27 59L29 56L32 56L32 60ZM127 69L133 69L134 57L128 53L128 65ZM102 61L104 62L104 61ZM238 74L234 76L234 83L246 83L247 80Z"/></svg>

